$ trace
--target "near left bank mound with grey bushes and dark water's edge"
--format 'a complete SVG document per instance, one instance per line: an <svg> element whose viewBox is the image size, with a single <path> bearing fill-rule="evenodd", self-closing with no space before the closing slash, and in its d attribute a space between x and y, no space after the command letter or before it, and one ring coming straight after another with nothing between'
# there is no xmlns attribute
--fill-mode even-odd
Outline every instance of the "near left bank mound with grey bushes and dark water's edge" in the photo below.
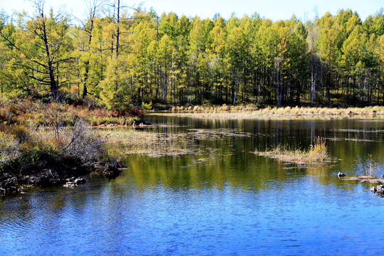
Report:
<svg viewBox="0 0 384 256"><path fill-rule="evenodd" d="M77 121L70 127L0 126L0 196L28 186L55 186L97 173L114 177L122 154Z"/></svg>

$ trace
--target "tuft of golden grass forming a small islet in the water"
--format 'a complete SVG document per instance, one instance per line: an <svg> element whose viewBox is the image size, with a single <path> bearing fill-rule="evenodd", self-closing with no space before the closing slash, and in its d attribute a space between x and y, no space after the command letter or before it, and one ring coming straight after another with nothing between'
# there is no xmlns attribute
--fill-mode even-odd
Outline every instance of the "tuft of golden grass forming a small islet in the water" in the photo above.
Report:
<svg viewBox="0 0 384 256"><path fill-rule="evenodd" d="M292 150L279 145L269 151L255 151L255 154L298 164L325 163L331 161L325 142L324 138L316 137L314 144L309 146L308 150Z"/></svg>

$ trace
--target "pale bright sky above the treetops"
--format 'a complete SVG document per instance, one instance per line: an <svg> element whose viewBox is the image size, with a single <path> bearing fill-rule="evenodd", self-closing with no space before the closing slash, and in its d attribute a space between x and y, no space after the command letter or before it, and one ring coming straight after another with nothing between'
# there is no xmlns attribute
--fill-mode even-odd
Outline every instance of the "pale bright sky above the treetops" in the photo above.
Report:
<svg viewBox="0 0 384 256"><path fill-rule="evenodd" d="M122 2L129 6L142 4L142 7L147 10L153 7L159 16L163 12L172 11L178 16L198 15L200 18L213 18L216 13L219 13L224 18L229 18L233 12L238 17L244 14L250 16L257 12L261 17L270 18L273 21L289 19L293 14L302 21L304 17L306 20L313 19L314 6L318 7L320 17L327 11L335 15L339 9L352 9L357 11L364 21L368 15L374 15L384 7L384 0L122 0ZM84 0L46 0L45 11L48 12L50 7L53 7L53 11L65 8L78 18L85 16ZM22 10L31 13L33 4L26 0L0 0L0 9L4 9L8 14Z"/></svg>

